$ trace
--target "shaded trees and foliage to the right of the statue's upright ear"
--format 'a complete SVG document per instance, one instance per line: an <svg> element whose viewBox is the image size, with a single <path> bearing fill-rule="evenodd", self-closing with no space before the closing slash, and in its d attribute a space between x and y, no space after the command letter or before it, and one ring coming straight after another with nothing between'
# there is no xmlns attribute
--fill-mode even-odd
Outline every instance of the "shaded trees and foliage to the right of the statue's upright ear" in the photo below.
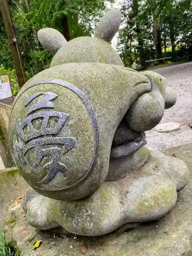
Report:
<svg viewBox="0 0 192 256"><path fill-rule="evenodd" d="M118 50L126 66L136 58L146 68L143 60L158 57L158 43L161 52L172 52L172 61L192 60L191 0L124 0L121 11Z"/></svg>

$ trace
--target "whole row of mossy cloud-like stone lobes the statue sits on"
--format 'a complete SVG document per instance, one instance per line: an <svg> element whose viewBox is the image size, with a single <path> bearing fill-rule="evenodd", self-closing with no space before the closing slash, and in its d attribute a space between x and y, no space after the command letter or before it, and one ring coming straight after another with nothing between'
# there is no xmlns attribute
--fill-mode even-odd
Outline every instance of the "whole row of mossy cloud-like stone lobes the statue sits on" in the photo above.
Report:
<svg viewBox="0 0 192 256"><path fill-rule="evenodd" d="M83 200L57 201L39 196L27 204L30 224L47 229L56 221L70 233L101 236L124 224L153 221L174 208L177 191L188 181L188 167L179 159L148 150L141 154L147 162L132 174L103 182L95 193ZM117 214L118 213L118 214ZM45 225L45 226L44 226Z"/></svg>

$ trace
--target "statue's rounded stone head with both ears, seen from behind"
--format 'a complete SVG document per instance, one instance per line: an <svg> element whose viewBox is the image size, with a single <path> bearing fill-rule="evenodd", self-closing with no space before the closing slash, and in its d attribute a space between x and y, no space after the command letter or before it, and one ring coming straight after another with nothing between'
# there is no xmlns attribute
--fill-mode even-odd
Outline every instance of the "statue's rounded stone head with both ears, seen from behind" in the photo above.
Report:
<svg viewBox="0 0 192 256"><path fill-rule="evenodd" d="M51 67L73 62L101 62L123 66L118 53L111 46L111 40L121 23L121 12L106 13L97 25L94 37L77 37L69 42L55 29L38 31L38 38L45 49L55 53Z"/></svg>

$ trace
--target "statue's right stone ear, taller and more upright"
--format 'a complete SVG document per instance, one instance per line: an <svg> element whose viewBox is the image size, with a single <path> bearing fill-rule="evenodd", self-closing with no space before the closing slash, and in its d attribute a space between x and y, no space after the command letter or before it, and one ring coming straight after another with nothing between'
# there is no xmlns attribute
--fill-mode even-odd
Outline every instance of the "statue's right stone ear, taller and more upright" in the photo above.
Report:
<svg viewBox="0 0 192 256"><path fill-rule="evenodd" d="M120 10L113 9L107 12L99 21L96 30L95 37L102 40L111 42L115 34L117 33L121 24L121 12Z"/></svg>

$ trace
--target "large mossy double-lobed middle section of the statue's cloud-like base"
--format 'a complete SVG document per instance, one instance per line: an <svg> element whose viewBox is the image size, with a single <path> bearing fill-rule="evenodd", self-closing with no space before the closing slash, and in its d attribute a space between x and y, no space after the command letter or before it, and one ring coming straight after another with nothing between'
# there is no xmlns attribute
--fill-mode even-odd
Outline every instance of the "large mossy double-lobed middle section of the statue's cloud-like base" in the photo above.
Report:
<svg viewBox="0 0 192 256"><path fill-rule="evenodd" d="M175 206L175 184L158 175L104 182L89 198L61 201L58 223L81 236L101 236L126 223L157 220Z"/></svg>

